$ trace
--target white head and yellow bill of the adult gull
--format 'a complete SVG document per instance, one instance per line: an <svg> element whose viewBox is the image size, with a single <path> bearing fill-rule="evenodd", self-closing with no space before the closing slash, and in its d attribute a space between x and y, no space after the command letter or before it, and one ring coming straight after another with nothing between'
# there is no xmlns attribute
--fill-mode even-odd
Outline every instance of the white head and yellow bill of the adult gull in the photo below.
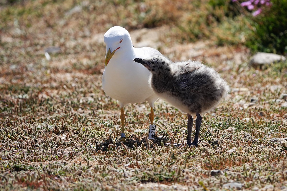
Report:
<svg viewBox="0 0 287 191"><path fill-rule="evenodd" d="M116 52L130 50L133 47L129 32L120 26L114 26L108 29L104 34L104 42L106 43L105 67Z"/></svg>

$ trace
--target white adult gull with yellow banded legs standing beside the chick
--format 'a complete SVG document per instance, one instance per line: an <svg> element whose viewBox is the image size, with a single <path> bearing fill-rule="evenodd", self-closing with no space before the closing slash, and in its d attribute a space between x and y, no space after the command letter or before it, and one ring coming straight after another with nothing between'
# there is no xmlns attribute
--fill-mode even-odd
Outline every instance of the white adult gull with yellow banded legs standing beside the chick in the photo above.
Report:
<svg viewBox="0 0 287 191"><path fill-rule="evenodd" d="M128 103L148 101L150 105L150 124L154 121L154 101L158 96L149 85L150 71L142 64L134 62L134 58L149 58L161 55L159 51L150 48L134 48L129 32L120 26L108 29L104 34L106 44L105 69L102 76L104 92L117 99L121 106L121 141L125 141L124 106Z"/></svg>

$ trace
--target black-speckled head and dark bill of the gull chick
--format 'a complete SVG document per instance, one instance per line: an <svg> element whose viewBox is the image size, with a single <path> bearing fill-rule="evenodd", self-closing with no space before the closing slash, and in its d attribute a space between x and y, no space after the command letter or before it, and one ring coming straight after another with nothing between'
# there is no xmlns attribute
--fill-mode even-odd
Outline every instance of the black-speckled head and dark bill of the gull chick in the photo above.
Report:
<svg viewBox="0 0 287 191"><path fill-rule="evenodd" d="M152 72L153 75L162 76L166 75L167 73L170 73L171 68L171 62L164 56L156 56L156 57L150 57L150 58L135 58L133 61L141 63L144 65L150 72Z"/></svg>

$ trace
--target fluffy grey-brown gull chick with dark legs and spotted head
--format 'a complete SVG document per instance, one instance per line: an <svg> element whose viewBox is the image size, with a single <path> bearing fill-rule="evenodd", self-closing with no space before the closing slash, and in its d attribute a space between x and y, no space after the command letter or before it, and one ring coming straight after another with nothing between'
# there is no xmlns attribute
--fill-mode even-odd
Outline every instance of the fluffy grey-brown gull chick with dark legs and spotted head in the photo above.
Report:
<svg viewBox="0 0 287 191"><path fill-rule="evenodd" d="M187 113L187 144L197 147L202 113L214 108L229 91L220 74L197 61L171 62L164 56L135 58L152 73L150 85L156 94ZM195 137L191 142L193 118Z"/></svg>

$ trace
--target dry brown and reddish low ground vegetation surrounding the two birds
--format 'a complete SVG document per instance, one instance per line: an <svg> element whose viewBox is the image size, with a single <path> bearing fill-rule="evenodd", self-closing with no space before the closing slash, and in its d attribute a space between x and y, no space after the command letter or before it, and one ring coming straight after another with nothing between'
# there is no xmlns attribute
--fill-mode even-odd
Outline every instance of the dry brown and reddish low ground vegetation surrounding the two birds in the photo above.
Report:
<svg viewBox="0 0 287 191"><path fill-rule="evenodd" d="M119 105L101 88L102 33L113 25L142 27L144 22L135 22L140 15L133 13L143 5L151 9L147 15L166 24L185 19L182 14L196 7L177 1L160 15L176 13L156 17L154 7L165 2L24 1L1 7L1 190L222 190L228 182L245 190L286 186L287 143L272 142L287 137L284 63L256 70L248 66L243 46L217 47L211 40L177 44L181 39L173 26L160 30L161 51L173 60L204 60L228 81L230 94L204 114L197 148L162 145L184 143L187 133L187 116L162 100L155 105L156 143L146 143L147 103L125 108L128 141L115 142ZM82 11L69 14L77 5ZM44 49L51 46L61 52L48 61ZM211 176L213 169L222 173Z"/></svg>

